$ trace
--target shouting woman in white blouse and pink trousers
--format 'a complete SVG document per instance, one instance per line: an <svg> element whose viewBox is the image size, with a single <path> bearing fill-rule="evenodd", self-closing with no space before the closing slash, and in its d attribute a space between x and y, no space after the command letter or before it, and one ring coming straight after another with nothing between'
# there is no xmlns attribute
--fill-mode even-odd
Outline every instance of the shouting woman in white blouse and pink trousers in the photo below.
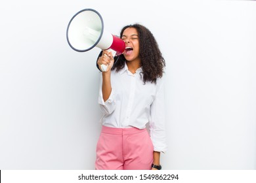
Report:
<svg viewBox="0 0 256 183"><path fill-rule="evenodd" d="M104 116L95 169L161 169L160 152L167 149L165 59L143 25L123 27L120 37L126 47L116 63L106 50L97 61L108 69L100 77L98 103Z"/></svg>

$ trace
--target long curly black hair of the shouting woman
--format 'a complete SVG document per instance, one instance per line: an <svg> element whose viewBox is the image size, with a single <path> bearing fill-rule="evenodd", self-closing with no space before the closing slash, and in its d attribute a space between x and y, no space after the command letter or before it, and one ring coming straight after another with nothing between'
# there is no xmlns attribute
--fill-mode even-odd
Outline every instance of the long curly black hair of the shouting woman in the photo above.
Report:
<svg viewBox="0 0 256 183"><path fill-rule="evenodd" d="M126 25L121 29L120 37L122 37L123 31L129 27L137 29L139 34L139 57L144 84L146 82L156 83L156 79L163 76L163 69L165 67L165 59L160 52L158 43L151 31L140 24ZM112 69L116 70L116 72L120 71L125 66L125 61L126 59L122 54Z"/></svg>

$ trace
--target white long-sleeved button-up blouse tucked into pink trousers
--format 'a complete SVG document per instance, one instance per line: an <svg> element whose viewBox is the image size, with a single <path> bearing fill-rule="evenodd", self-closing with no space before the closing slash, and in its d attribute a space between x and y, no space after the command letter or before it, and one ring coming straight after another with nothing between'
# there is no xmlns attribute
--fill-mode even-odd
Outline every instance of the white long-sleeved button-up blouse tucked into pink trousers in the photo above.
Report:
<svg viewBox="0 0 256 183"><path fill-rule="evenodd" d="M142 80L141 68L131 73L127 65L116 73L112 71L110 79L112 92L106 102L102 97L102 75L98 103L104 114L102 125L107 127L137 127L144 129L149 123L150 138L154 151L166 152L165 134L165 96L163 78L157 83Z"/></svg>

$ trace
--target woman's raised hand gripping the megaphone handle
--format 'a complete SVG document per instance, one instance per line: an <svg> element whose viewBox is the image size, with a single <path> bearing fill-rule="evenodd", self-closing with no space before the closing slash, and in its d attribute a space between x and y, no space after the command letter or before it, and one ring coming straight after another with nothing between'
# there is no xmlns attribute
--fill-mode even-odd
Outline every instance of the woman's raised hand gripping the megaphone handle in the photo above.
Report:
<svg viewBox="0 0 256 183"><path fill-rule="evenodd" d="M100 68L100 71L102 71L101 65L106 65L106 71L102 72L110 72L113 65L114 65L114 57L112 55L112 52L108 52L108 50L103 50L102 55L98 58L97 61L98 67Z"/></svg>

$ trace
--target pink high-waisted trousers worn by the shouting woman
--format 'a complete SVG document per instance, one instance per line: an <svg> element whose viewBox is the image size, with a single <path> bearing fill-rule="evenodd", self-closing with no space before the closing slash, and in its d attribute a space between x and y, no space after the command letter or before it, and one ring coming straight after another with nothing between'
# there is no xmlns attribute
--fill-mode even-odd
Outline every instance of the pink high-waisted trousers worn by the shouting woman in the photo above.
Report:
<svg viewBox="0 0 256 183"><path fill-rule="evenodd" d="M96 170L150 170L153 144L146 129L102 126L96 146Z"/></svg>

